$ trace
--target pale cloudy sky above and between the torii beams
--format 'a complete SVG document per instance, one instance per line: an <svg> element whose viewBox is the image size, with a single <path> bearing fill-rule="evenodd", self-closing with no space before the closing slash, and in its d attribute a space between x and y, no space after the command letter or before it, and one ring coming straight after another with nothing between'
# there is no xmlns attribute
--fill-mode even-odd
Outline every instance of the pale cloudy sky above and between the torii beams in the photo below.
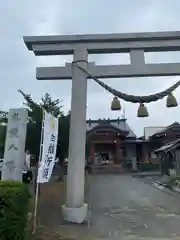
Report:
<svg viewBox="0 0 180 240"><path fill-rule="evenodd" d="M172 3L173 2L173 3ZM98 34L179 31L179 0L6 0L0 4L0 110L23 106L17 92L22 89L39 101L48 92L62 100L64 112L70 109L71 80L38 81L37 66L63 66L72 56L35 57L23 36L53 34ZM148 53L147 63L180 62L180 52ZM128 54L90 55L96 64L123 64ZM149 95L174 84L180 77L104 79L113 88L133 95ZM180 103L180 88L175 92ZM87 119L118 118L112 112L113 96L88 80ZM97 101L98 99L98 101ZM167 126L180 121L180 107L167 109L166 100L147 105L149 117L137 118L138 104L121 101L130 127L137 136L144 127Z"/></svg>

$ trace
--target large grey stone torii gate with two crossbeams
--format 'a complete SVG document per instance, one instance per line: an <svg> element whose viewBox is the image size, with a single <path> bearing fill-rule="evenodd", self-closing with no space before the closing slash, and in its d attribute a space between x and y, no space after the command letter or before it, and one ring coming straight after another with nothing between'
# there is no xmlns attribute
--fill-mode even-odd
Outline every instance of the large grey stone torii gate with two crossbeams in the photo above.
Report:
<svg viewBox="0 0 180 240"><path fill-rule="evenodd" d="M180 75L180 63L146 64L144 60L144 52L179 51L180 32L30 36L24 37L24 42L36 56L73 55L73 62L97 78ZM97 66L87 62L88 54L103 53L130 53L131 64ZM64 67L38 67L36 77L72 79L67 192L62 211L65 220L81 223L88 211L84 203L84 166L89 76L75 64L67 63Z"/></svg>

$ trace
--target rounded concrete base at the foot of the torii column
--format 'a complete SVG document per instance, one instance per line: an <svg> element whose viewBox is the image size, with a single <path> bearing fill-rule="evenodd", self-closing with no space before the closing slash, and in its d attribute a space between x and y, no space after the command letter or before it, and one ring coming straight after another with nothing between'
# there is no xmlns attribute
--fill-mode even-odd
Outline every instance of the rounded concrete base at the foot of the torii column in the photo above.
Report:
<svg viewBox="0 0 180 240"><path fill-rule="evenodd" d="M62 214L64 220L72 223L83 223L87 219L88 204L84 203L81 207L69 208L66 205L62 206Z"/></svg>

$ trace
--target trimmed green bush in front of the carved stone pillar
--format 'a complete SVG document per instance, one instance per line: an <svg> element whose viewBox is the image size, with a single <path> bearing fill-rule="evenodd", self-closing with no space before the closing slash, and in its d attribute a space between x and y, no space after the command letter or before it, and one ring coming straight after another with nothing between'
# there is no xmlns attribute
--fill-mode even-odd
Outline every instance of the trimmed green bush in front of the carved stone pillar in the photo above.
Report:
<svg viewBox="0 0 180 240"><path fill-rule="evenodd" d="M30 193L15 181L0 181L0 239L23 240L27 227Z"/></svg>

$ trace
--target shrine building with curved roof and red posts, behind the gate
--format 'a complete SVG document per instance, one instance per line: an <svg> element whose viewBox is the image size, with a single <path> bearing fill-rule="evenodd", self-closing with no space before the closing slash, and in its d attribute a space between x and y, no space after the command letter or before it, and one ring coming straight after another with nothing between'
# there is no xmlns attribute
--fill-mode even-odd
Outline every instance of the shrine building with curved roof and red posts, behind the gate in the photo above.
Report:
<svg viewBox="0 0 180 240"><path fill-rule="evenodd" d="M137 137L127 119L98 119L86 121L88 158L91 164L121 164L136 161Z"/></svg>

